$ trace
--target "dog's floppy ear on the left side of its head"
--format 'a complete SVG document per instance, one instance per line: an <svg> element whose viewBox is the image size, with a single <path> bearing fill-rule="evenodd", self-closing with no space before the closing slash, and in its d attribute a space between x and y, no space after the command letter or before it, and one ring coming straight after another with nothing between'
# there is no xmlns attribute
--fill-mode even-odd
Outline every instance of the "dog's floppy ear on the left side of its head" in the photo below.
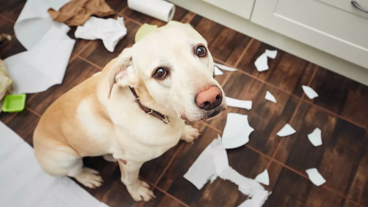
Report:
<svg viewBox="0 0 368 207"><path fill-rule="evenodd" d="M131 48L125 48L109 71L109 92L107 98L110 98L115 83L121 87L136 87L138 85L138 76L132 61Z"/></svg>

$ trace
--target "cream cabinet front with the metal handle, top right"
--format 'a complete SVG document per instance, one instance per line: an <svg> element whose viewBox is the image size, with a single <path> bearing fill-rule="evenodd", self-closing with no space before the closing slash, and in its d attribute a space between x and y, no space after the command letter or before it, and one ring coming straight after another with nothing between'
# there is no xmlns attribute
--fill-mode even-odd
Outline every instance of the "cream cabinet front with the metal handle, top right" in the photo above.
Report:
<svg viewBox="0 0 368 207"><path fill-rule="evenodd" d="M251 21L368 68L368 14L349 0L256 0Z"/></svg>

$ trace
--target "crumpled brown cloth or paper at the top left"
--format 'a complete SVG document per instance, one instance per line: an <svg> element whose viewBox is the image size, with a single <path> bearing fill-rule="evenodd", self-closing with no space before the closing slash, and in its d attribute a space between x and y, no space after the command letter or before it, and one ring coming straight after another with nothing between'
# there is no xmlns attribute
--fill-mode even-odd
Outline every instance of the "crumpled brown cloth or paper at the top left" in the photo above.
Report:
<svg viewBox="0 0 368 207"><path fill-rule="evenodd" d="M69 26L84 24L91 15L106 17L114 14L114 10L105 0L72 0L59 11L49 8L47 12L54 21L64 22Z"/></svg>

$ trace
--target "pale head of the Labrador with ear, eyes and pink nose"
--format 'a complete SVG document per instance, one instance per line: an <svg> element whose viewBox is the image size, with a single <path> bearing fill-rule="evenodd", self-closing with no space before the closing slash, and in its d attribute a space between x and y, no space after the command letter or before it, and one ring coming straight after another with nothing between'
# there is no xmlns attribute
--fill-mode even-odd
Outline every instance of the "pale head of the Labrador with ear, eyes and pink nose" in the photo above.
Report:
<svg viewBox="0 0 368 207"><path fill-rule="evenodd" d="M144 86L156 102L192 122L226 109L207 42L189 24L160 27L124 49L110 70L109 83L110 92L114 83Z"/></svg>

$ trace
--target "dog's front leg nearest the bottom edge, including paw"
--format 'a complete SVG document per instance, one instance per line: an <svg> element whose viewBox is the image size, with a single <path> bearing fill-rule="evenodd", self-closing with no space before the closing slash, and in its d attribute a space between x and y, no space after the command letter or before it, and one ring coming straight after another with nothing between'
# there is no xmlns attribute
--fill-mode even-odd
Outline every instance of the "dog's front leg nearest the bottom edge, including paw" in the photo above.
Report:
<svg viewBox="0 0 368 207"><path fill-rule="evenodd" d="M119 160L121 182L127 186L128 192L135 201L149 201L155 198L152 190L149 189L149 185L138 179L139 169L142 164L143 162Z"/></svg>

